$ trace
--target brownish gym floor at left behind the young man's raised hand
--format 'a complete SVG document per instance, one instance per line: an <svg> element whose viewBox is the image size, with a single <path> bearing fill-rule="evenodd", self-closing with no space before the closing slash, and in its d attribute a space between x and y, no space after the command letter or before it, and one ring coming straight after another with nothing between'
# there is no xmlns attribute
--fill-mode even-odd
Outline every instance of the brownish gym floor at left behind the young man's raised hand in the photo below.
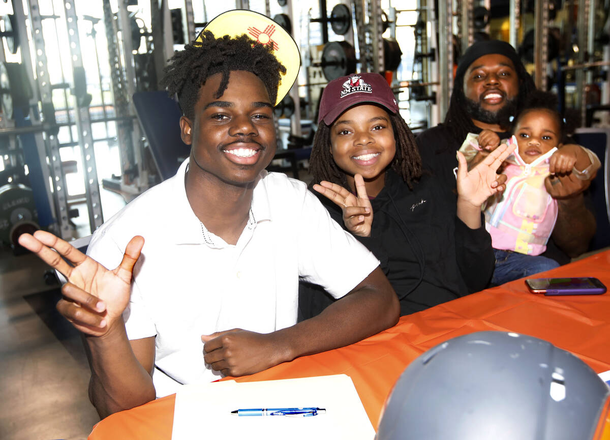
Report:
<svg viewBox="0 0 610 440"><path fill-rule="evenodd" d="M101 187L100 196L105 218L125 205ZM90 233L86 215L73 223L75 238ZM49 269L0 247L0 439L81 440L99 421L81 336L55 309L60 285Z"/></svg>

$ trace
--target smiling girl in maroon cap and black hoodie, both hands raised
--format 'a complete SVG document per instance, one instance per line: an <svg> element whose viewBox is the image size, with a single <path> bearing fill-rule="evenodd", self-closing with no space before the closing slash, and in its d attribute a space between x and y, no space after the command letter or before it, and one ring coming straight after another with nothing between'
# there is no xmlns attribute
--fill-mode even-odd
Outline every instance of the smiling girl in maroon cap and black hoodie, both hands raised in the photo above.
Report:
<svg viewBox="0 0 610 440"><path fill-rule="evenodd" d="M494 259L481 204L504 190L506 176L496 170L511 150L498 148L471 171L459 153L456 195L455 182L422 173L413 134L386 80L361 73L326 86L310 172L331 217L381 261L405 315L489 283ZM307 318L332 299L301 283L299 301Z"/></svg>

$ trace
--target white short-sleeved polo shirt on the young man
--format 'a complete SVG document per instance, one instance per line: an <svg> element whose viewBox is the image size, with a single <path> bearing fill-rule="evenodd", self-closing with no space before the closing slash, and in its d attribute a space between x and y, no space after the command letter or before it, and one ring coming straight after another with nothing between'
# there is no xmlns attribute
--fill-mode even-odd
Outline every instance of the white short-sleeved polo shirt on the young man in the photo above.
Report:
<svg viewBox="0 0 610 440"><path fill-rule="evenodd" d="M157 397L220 377L203 360L202 334L294 325L300 277L339 298L379 264L303 182L267 171L254 188L248 224L228 245L193 213L187 163L104 223L87 250L114 269L133 236L145 239L124 319L129 339L156 336Z"/></svg>

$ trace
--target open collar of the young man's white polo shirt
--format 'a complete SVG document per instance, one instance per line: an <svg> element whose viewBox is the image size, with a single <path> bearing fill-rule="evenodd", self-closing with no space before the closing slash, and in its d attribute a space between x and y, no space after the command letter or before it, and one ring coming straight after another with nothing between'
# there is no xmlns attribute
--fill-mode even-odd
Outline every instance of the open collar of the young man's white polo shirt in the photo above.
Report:
<svg viewBox="0 0 610 440"><path fill-rule="evenodd" d="M176 175L168 179L167 182L166 190L169 203L167 207L162 208L167 209L165 213L167 216L167 234L171 242L175 244L208 244L201 231L201 222L199 222L199 218L188 203L184 185L187 167L188 158L182 162ZM266 175L267 171L263 170L257 178L248 225L254 222L256 226L259 222L271 220L267 187L265 182L262 181ZM246 225L246 228L248 225Z"/></svg>

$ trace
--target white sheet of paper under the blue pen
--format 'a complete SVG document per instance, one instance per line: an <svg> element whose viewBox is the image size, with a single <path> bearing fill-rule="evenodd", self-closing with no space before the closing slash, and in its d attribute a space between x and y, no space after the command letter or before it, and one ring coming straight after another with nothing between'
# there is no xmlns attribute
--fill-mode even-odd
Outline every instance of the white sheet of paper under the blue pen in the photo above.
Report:
<svg viewBox="0 0 610 440"><path fill-rule="evenodd" d="M231 414L246 408L325 408L312 417ZM173 440L372 440L375 430L346 375L182 386L176 393Z"/></svg>

